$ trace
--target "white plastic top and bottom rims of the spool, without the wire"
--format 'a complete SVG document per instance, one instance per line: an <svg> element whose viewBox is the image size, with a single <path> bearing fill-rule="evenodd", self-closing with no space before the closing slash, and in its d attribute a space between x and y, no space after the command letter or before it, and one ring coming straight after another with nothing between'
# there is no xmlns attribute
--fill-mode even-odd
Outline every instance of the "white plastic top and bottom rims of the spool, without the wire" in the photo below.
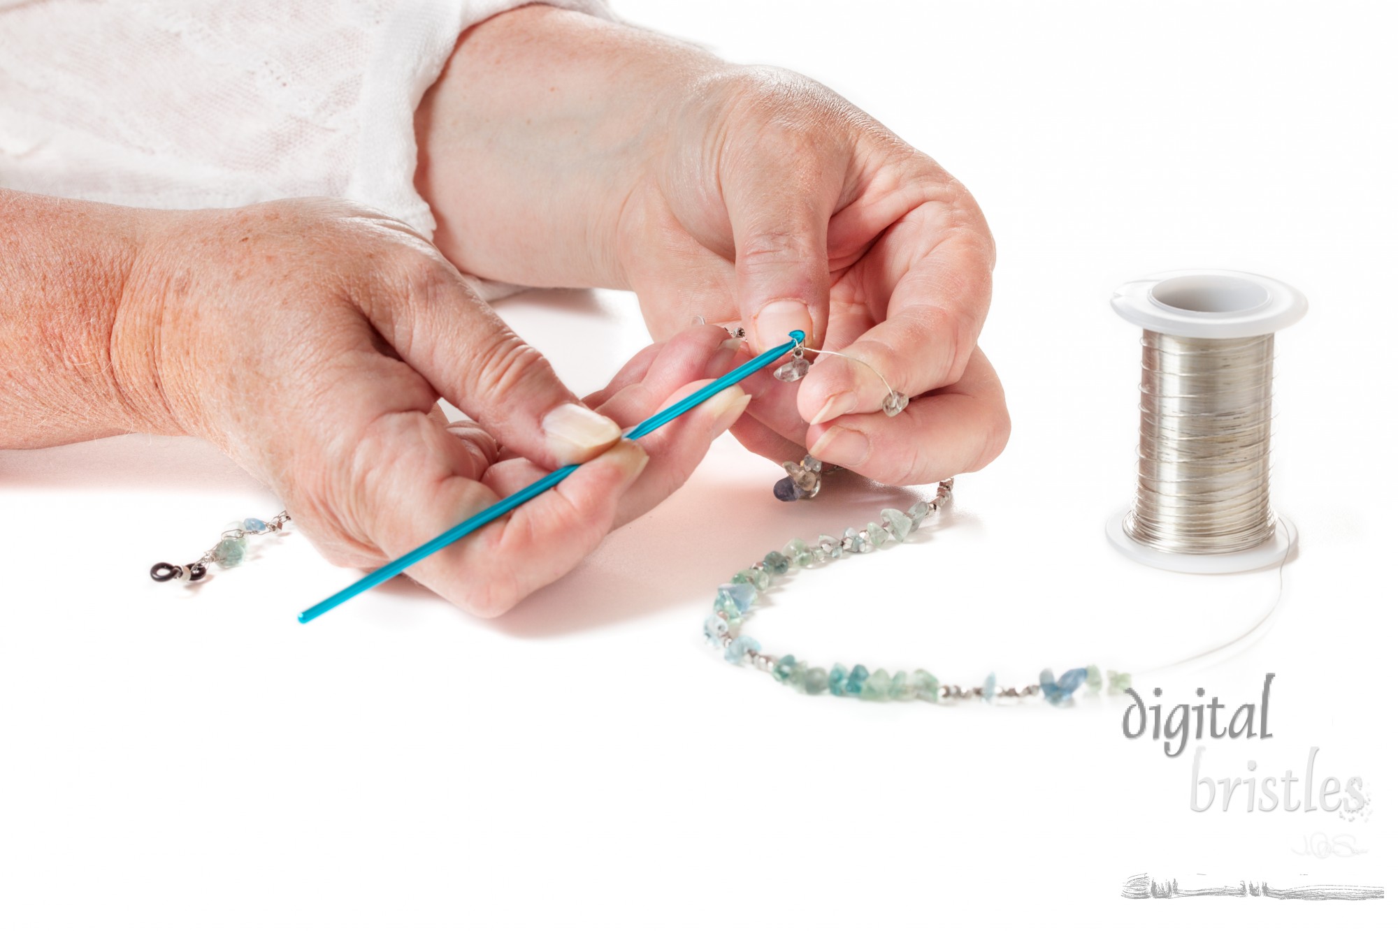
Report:
<svg viewBox="0 0 1398 931"><path fill-rule="evenodd" d="M1166 271L1128 281L1111 295L1111 309L1142 330L1202 340L1267 335L1306 316L1306 296L1296 288L1222 268ZM1184 554L1153 549L1127 535L1124 509L1107 521L1107 540L1146 566L1170 572L1222 575L1275 566L1296 542L1296 526L1274 510L1272 535L1251 549L1229 554Z"/></svg>

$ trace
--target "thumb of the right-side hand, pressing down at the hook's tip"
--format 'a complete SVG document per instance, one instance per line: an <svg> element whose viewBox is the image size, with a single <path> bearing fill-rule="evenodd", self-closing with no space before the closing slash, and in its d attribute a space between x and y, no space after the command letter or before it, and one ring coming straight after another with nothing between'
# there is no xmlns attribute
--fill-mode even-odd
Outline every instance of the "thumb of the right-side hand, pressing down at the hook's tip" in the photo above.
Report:
<svg viewBox="0 0 1398 931"><path fill-rule="evenodd" d="M825 340L830 303L826 228L837 192L816 175L790 162L758 164L724 183L738 308L756 351L786 342L791 330L804 330L812 345ZM773 185L773 179L783 182Z"/></svg>

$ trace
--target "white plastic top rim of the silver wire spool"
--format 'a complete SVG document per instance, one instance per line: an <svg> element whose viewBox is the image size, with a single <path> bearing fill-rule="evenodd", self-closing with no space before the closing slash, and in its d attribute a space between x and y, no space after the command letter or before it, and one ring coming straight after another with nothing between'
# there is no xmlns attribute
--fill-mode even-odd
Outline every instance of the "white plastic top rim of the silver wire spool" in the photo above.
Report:
<svg viewBox="0 0 1398 931"><path fill-rule="evenodd" d="M1285 281L1226 268L1162 271L1128 281L1111 308L1142 330L1204 340L1267 335L1306 316L1306 295Z"/></svg>

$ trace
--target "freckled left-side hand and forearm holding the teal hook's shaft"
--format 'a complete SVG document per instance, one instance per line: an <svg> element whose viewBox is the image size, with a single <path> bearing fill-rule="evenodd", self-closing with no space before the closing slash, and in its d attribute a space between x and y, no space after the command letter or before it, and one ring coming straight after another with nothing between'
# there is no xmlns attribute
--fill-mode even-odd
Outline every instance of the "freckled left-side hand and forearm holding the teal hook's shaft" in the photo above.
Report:
<svg viewBox="0 0 1398 931"><path fill-rule="evenodd" d="M584 463L408 570L482 615L672 492L748 400L733 387L618 440L730 369L738 345L691 327L633 359L594 411L431 243L341 201L166 212L0 192L0 246L28 260L0 261L0 445L207 438L323 554L362 568ZM442 397L471 419L447 424Z"/></svg>

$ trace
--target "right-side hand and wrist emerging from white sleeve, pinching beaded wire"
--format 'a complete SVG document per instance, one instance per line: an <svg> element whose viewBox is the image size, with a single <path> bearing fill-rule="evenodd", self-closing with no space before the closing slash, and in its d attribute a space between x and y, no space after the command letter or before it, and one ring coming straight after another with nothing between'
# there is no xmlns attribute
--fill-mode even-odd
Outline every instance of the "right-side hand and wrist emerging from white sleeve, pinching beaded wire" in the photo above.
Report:
<svg viewBox="0 0 1398 931"><path fill-rule="evenodd" d="M751 449L927 482L1004 447L976 345L994 263L980 210L819 84L528 7L468 34L418 117L419 187L463 268L632 288L658 338L696 315L741 319L755 349L802 329L914 398L888 418L870 368L818 356L800 383L748 383L734 432Z"/></svg>

